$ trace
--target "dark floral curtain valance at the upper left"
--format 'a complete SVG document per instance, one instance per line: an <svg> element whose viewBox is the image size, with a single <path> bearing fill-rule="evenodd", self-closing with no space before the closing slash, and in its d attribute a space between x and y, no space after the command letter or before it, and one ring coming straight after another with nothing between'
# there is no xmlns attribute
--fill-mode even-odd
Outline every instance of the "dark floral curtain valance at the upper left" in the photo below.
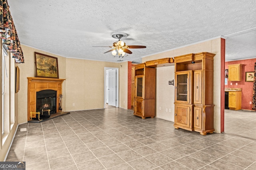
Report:
<svg viewBox="0 0 256 170"><path fill-rule="evenodd" d="M24 63L20 40L12 20L7 0L0 0L0 38L12 53L16 63Z"/></svg>

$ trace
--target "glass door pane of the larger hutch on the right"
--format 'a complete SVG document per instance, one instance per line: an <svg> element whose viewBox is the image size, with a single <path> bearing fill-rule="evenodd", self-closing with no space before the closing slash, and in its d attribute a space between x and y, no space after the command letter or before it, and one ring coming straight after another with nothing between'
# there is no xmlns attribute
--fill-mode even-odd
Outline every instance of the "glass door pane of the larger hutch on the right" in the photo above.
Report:
<svg viewBox="0 0 256 170"><path fill-rule="evenodd" d="M188 101L188 74L177 75L177 100Z"/></svg>

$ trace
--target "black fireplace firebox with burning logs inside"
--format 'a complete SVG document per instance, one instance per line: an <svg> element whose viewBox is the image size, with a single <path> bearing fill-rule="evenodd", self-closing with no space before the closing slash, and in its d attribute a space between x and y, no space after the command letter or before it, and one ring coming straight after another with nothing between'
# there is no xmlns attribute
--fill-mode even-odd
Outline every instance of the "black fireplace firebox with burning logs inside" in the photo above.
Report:
<svg viewBox="0 0 256 170"><path fill-rule="evenodd" d="M50 114L56 113L56 91L41 90L36 92L36 112L40 112L42 116L50 117Z"/></svg>

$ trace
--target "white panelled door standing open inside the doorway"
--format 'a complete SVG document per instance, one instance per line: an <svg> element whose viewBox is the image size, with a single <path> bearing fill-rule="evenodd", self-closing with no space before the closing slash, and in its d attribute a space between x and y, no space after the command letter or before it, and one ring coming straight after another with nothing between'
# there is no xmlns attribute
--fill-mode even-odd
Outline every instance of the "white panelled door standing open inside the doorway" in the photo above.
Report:
<svg viewBox="0 0 256 170"><path fill-rule="evenodd" d="M108 105L116 106L116 70L108 70Z"/></svg>

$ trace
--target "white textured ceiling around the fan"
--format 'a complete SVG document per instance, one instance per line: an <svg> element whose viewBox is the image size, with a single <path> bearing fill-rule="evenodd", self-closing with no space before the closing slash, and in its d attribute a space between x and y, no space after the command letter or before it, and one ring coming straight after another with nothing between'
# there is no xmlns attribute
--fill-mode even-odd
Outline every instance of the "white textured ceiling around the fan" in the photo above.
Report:
<svg viewBox="0 0 256 170"><path fill-rule="evenodd" d="M8 0L20 42L68 58L118 62L110 50L124 32L124 61L198 41L226 39L226 61L256 58L255 0ZM26 54L24 55L26 61ZM31 56L30 56L31 57ZM167 56L164 56L167 57Z"/></svg>

